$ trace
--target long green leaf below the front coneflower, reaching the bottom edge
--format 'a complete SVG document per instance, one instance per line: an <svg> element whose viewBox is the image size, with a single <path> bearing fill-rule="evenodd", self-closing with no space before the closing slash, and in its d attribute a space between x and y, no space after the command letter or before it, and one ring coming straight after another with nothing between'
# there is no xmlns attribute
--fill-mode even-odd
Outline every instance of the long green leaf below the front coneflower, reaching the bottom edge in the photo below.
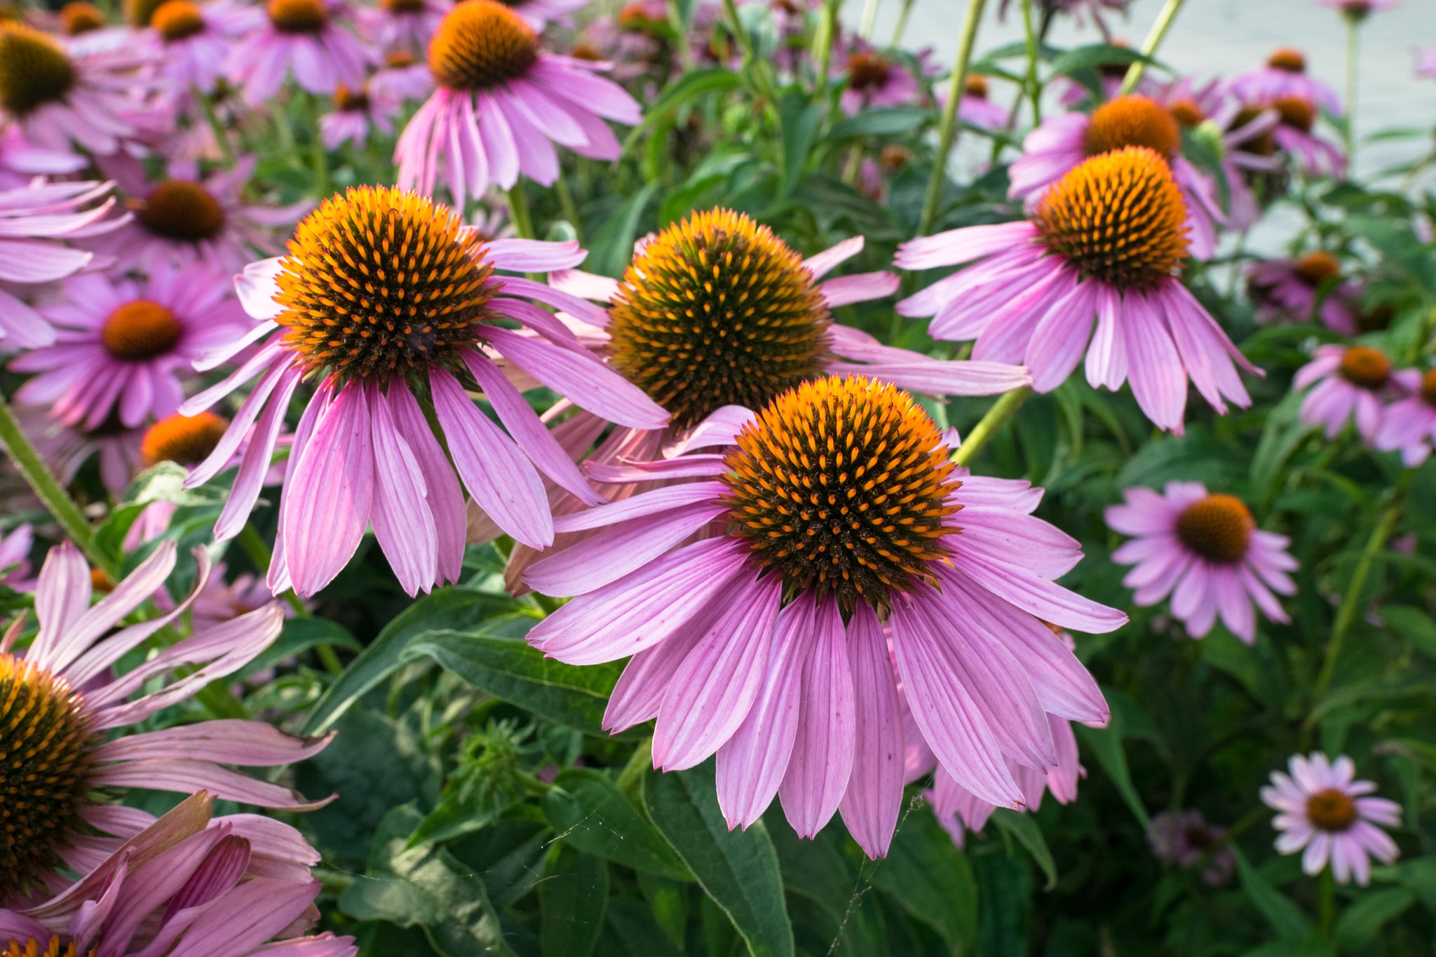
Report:
<svg viewBox="0 0 1436 957"><path fill-rule="evenodd" d="M754 957L793 957L778 855L763 826L729 831L718 809L714 762L651 773L643 803L708 897L728 915Z"/></svg>

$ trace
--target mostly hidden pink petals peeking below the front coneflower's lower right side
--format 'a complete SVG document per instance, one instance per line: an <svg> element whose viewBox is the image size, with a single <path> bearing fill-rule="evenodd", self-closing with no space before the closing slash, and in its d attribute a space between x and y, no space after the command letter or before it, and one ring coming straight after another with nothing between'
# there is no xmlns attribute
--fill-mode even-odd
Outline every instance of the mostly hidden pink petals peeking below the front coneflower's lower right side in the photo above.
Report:
<svg viewBox="0 0 1436 957"><path fill-rule="evenodd" d="M1077 781L1087 772L1077 762L1077 737L1073 735L1071 722L1055 715L1047 716L1047 726L1051 729L1053 745L1057 749L1057 763L1047 769L1028 768L1020 762L1007 759L1008 772L1012 781L1022 791L1022 811L1035 812L1043 806L1043 796L1051 792L1057 803L1070 803L1077 799ZM933 772L932 789L923 792L938 824L948 832L952 842L959 848L966 841L966 831L981 831L998 805L989 803L964 788L941 765L936 765L932 750L920 735L916 735L916 725L903 709L903 727L909 732L906 779L913 782L929 770ZM916 765L915 765L916 759Z"/></svg>

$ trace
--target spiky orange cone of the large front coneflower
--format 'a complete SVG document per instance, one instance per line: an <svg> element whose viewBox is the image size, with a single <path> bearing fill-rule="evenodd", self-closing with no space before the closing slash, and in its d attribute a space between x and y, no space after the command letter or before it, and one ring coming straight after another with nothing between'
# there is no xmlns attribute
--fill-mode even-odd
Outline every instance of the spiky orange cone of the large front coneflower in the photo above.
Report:
<svg viewBox="0 0 1436 957"><path fill-rule="evenodd" d="M886 608L892 590L936 584L961 482L912 396L863 376L781 393L728 455L731 532L788 591Z"/></svg>

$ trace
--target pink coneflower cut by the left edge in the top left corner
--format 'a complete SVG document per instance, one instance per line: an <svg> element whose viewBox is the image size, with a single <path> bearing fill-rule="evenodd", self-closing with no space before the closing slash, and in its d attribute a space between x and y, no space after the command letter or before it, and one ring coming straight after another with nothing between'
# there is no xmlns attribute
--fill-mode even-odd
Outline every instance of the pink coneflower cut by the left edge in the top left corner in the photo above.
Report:
<svg viewBox="0 0 1436 957"><path fill-rule="evenodd" d="M36 146L70 143L98 156L154 136L146 99L154 80L142 73L149 52L66 50L17 22L0 23L0 121L10 119Z"/></svg>

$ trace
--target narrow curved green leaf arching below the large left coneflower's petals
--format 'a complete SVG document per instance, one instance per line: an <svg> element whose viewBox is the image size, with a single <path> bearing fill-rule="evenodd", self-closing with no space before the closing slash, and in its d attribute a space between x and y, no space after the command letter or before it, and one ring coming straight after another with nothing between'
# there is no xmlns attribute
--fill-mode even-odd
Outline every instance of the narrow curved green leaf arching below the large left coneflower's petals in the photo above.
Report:
<svg viewBox="0 0 1436 957"><path fill-rule="evenodd" d="M402 664L405 647L426 631L449 628L503 614L511 601L472 588L449 587L419 598L383 627L363 653L329 686L309 712L306 735L322 735L368 692L378 687Z"/></svg>

